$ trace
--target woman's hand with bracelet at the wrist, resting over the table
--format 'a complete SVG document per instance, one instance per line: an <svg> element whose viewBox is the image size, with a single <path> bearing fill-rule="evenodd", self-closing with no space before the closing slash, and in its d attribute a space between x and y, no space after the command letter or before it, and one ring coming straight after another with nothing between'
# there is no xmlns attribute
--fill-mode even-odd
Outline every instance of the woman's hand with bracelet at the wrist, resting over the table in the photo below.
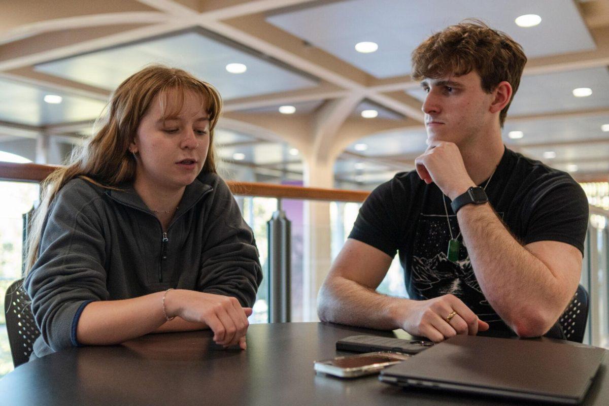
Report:
<svg viewBox="0 0 609 406"><path fill-rule="evenodd" d="M236 298L196 292L171 290L165 296L167 317L180 317L193 323L205 323L214 332L214 342L225 347L239 344L247 347L245 333L252 314L250 307L241 307Z"/></svg>

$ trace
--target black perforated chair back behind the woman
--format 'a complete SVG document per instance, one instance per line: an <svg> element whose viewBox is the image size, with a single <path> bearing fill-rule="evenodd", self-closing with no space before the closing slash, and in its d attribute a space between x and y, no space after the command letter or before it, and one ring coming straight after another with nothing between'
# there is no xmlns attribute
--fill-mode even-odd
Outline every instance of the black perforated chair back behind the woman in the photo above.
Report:
<svg viewBox="0 0 609 406"><path fill-rule="evenodd" d="M40 335L30 308L30 298L23 289L23 278L10 284L7 289L4 314L10 352L16 368L29 361L33 343Z"/></svg>

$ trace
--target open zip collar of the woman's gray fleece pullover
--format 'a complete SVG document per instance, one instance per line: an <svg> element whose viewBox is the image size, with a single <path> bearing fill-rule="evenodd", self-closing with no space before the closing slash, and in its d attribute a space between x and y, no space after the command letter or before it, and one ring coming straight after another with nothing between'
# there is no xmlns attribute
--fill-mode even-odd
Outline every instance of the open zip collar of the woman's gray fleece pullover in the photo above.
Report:
<svg viewBox="0 0 609 406"><path fill-rule="evenodd" d="M199 201L203 195L211 191L212 187L209 184L203 183L198 177L184 189L184 194L178 205L178 209L175 212L174 218L179 217L184 212L188 211ZM118 187L118 189L108 189L106 194L113 200L124 203L127 206L149 212L154 215L152 210L146 203L139 197L138 192L135 191L133 183L125 183Z"/></svg>

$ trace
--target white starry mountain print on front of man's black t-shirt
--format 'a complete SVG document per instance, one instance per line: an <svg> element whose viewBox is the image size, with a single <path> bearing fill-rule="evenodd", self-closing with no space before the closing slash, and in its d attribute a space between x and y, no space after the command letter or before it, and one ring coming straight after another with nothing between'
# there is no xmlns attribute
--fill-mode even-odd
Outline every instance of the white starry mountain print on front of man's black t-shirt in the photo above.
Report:
<svg viewBox="0 0 609 406"><path fill-rule="evenodd" d="M503 213L498 214L503 218ZM449 221L452 235L457 237L457 216L450 215ZM484 298L463 245L463 236L459 237L459 260L456 263L448 261L446 251L450 239L446 215L420 215L410 267L410 287L414 292L409 292L410 295L414 293L419 299L431 299L450 293L461 299L481 320L501 320Z"/></svg>

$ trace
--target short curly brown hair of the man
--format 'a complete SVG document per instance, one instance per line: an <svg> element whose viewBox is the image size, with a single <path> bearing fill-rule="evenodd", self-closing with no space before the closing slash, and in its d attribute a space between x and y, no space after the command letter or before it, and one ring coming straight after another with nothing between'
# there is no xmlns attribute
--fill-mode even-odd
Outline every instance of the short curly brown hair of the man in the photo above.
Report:
<svg viewBox="0 0 609 406"><path fill-rule="evenodd" d="M476 71L487 93L505 80L512 85L513 93L499 113L499 124L503 127L526 62L523 47L506 33L469 19L435 33L412 52L412 78L440 79Z"/></svg>

